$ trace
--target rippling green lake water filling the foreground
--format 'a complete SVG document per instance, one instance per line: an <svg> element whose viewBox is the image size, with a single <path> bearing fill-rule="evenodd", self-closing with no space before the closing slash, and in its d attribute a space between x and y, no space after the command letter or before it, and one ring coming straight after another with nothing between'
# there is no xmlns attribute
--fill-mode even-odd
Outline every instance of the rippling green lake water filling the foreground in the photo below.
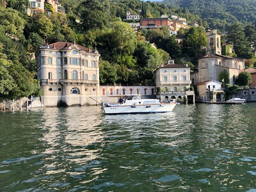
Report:
<svg viewBox="0 0 256 192"><path fill-rule="evenodd" d="M256 191L256 104L0 113L0 191Z"/></svg>

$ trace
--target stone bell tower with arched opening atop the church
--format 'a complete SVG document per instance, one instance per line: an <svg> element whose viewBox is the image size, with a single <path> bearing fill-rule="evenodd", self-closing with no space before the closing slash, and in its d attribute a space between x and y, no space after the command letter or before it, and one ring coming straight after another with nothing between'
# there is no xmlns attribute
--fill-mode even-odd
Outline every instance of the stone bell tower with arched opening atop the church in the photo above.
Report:
<svg viewBox="0 0 256 192"><path fill-rule="evenodd" d="M221 35L217 33L217 30L207 31L206 36L207 54L221 54Z"/></svg>

